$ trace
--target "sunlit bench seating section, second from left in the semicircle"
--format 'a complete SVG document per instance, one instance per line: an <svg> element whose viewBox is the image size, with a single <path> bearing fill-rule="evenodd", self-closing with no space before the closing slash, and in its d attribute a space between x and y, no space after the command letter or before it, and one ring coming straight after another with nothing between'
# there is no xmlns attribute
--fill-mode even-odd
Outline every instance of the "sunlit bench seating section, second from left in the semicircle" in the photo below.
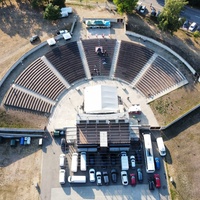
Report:
<svg viewBox="0 0 200 200"><path fill-rule="evenodd" d="M57 97L66 89L45 62L45 57L36 59L15 80L15 84L32 90L50 99Z"/></svg>

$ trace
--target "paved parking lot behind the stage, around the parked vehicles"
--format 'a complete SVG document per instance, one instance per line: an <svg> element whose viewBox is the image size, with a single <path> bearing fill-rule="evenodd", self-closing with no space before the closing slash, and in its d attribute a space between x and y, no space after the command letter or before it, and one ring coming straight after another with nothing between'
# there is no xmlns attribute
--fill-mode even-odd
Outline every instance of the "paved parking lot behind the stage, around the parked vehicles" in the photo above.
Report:
<svg viewBox="0 0 200 200"><path fill-rule="evenodd" d="M154 157L160 157L157 151L155 137L157 137L158 133L152 134L152 144L154 149ZM148 186L149 177L153 177L153 174L146 173L145 170L145 161L144 161L144 153L143 153L143 144L142 142L132 142L130 151L127 152L130 164L130 156L135 155L136 157L136 167L134 169L129 168L128 180L129 185L123 186L121 182L121 160L120 160L120 152L112 152L108 154L102 154L98 152L88 152L87 153L87 171L80 171L80 154L78 161L78 171L76 173L72 173L70 171L71 167L71 155L75 152L75 148L73 144L68 145L66 151L66 183L64 185L59 184L59 156L62 153L60 140L61 138L53 138L52 147L47 147L49 153L53 156L48 158L51 160L50 162L53 165L49 164L48 169L43 172L43 179L51 180L51 184L49 186L46 185L46 189L49 190L51 194L51 199L168 199L168 190L167 190L167 181L164 169L164 163L161 160L161 169L156 170L155 173L160 174L161 178L161 188L150 191ZM138 155L141 157L141 160L138 160ZM92 159L91 159L92 158ZM45 158L47 159L47 158ZM92 161L93 160L93 161ZM44 163L44 162L43 162ZM46 163L47 160L46 160ZM46 164L45 164L46 165ZM44 169L45 166L43 166ZM47 166L46 166L47 167ZM107 171L109 174L109 184L105 185L102 177L102 186L97 186L96 181L91 183L89 181L89 169L95 169L95 171ZM136 179L136 185L130 185L130 174L134 173L136 175L137 168L141 168L143 172L143 182L139 183ZM111 170L117 170L117 182L113 183L111 181ZM45 177L46 174L46 177ZM48 174L48 175L47 175ZM82 184L70 184L67 179L69 175L84 175L86 176L86 183ZM137 177L137 176L136 176ZM45 182L46 182L45 181ZM47 198L44 198L47 199Z"/></svg>

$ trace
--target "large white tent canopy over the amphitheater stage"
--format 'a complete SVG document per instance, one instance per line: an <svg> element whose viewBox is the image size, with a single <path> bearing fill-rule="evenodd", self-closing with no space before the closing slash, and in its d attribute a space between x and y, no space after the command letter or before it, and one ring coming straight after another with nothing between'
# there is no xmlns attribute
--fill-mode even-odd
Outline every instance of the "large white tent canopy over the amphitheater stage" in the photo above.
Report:
<svg viewBox="0 0 200 200"><path fill-rule="evenodd" d="M86 87L84 90L84 111L86 113L118 112L117 88L106 85Z"/></svg>

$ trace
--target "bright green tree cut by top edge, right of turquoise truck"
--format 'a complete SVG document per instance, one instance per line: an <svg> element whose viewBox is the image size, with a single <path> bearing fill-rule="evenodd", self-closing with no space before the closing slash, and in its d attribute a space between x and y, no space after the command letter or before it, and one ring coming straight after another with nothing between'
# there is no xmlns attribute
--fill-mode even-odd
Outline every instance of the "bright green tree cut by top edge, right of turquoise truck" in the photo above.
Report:
<svg viewBox="0 0 200 200"><path fill-rule="evenodd" d="M114 4L117 6L117 11L122 13L131 14L135 9L138 0L113 0Z"/></svg>

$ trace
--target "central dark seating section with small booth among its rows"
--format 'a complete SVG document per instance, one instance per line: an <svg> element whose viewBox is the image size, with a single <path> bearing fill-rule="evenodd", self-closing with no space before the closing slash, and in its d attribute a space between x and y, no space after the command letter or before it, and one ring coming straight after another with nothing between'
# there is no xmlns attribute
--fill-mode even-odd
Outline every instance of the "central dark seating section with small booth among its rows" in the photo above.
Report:
<svg viewBox="0 0 200 200"><path fill-rule="evenodd" d="M109 76L116 40L88 39L82 40L82 45L91 76Z"/></svg>

